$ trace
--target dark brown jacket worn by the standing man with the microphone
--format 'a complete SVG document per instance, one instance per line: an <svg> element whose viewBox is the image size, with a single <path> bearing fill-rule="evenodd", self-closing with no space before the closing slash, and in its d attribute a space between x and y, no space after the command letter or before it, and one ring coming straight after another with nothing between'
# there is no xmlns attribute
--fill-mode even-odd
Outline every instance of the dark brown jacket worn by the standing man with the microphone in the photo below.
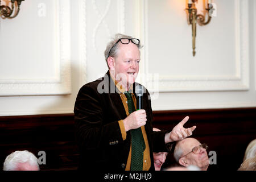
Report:
<svg viewBox="0 0 256 182"><path fill-rule="evenodd" d="M133 86L137 84L135 82ZM175 142L168 146L164 143L164 135L170 131L152 131L152 109L147 90L143 94L143 109L147 114L145 130L150 147L151 171L154 170L152 151L174 150ZM122 139L118 121L125 119L127 115L109 71L104 77L82 86L77 94L74 113L76 140L80 151L79 169L124 171L131 134L127 131L126 139Z"/></svg>

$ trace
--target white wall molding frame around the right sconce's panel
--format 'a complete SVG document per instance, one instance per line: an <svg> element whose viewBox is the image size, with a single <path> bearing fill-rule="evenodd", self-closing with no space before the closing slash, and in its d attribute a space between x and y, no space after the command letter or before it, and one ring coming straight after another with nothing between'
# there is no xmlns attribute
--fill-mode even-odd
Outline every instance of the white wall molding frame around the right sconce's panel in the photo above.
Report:
<svg viewBox="0 0 256 182"><path fill-rule="evenodd" d="M141 11L141 22L143 26L144 53L142 53L144 64L143 74L146 75L144 84L150 92L191 92L191 91L219 91L219 90L248 90L249 89L249 3L245 1L234 1L236 16L236 74L228 76L172 76L153 75L148 72L148 1L137 3ZM184 3L185 5L185 3ZM154 80L158 79L158 83ZM141 80L143 80L141 78ZM157 86L154 86L157 85Z"/></svg>

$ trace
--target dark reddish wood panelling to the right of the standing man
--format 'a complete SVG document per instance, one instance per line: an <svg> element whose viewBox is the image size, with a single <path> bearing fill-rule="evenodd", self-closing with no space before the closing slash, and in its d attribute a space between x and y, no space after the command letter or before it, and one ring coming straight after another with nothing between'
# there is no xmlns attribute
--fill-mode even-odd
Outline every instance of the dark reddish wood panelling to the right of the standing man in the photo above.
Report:
<svg viewBox="0 0 256 182"><path fill-rule="evenodd" d="M247 145L256 138L256 108L155 111L153 126L172 128L186 115L189 121L184 127L196 125L191 137L207 143L208 151L216 151L217 165L209 169L237 170ZM173 163L173 156L168 155L163 167Z"/></svg>

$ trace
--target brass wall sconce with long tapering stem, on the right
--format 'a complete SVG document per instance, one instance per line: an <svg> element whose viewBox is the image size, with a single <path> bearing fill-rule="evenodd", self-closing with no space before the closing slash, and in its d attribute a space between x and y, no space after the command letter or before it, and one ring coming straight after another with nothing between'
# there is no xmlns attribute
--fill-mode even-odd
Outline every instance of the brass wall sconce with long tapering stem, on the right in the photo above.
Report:
<svg viewBox="0 0 256 182"><path fill-rule="evenodd" d="M197 2L197 0L188 0L188 15L187 15L187 20L188 20L188 24L192 24L192 48L193 48L193 56L196 55L196 22L200 25L206 25L210 22L210 19L212 19L212 17L210 16L210 13L212 14L213 6L212 6L212 0L208 0L208 8L206 8L205 10L207 10L208 12L208 19L205 22L205 16L201 15L201 14L197 14L197 9L196 9L196 5L195 2Z"/></svg>

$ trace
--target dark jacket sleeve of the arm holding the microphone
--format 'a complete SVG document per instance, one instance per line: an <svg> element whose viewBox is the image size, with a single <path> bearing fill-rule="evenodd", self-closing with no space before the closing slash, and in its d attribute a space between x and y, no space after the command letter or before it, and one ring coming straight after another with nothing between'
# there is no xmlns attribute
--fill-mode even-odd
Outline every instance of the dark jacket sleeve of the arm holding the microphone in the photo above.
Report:
<svg viewBox="0 0 256 182"><path fill-rule="evenodd" d="M82 86L74 113L76 140L84 150L97 150L123 142L118 121L108 121L109 118L104 117L101 94L95 87Z"/></svg>

